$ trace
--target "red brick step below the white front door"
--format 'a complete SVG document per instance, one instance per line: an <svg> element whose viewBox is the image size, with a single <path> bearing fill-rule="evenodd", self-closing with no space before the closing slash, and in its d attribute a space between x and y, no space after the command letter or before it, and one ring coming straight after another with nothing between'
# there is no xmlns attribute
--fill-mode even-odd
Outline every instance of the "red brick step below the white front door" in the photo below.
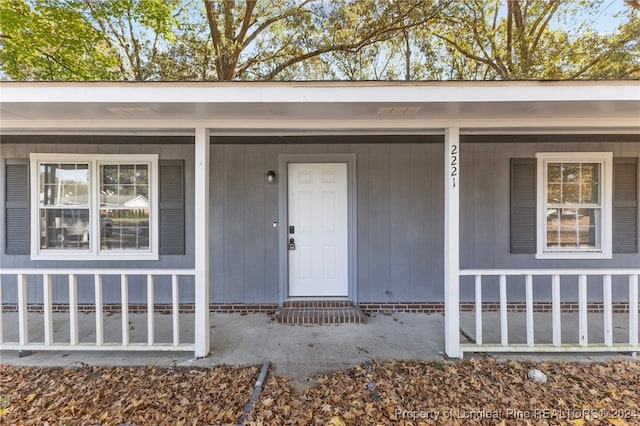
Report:
<svg viewBox="0 0 640 426"><path fill-rule="evenodd" d="M281 324L342 324L364 323L364 314L357 306L342 300L287 301L276 312Z"/></svg>

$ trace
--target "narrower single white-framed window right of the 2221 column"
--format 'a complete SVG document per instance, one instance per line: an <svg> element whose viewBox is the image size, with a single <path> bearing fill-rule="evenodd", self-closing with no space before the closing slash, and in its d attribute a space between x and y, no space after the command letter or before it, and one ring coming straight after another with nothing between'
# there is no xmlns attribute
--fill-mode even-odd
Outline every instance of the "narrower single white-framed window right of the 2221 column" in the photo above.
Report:
<svg viewBox="0 0 640 426"><path fill-rule="evenodd" d="M539 259L611 258L611 153L538 153Z"/></svg>

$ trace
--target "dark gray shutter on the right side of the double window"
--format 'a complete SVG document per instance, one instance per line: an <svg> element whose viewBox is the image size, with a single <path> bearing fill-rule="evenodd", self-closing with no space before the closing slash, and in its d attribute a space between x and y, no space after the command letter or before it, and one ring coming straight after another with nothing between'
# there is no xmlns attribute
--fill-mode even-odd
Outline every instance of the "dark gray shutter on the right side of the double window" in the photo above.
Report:
<svg viewBox="0 0 640 426"><path fill-rule="evenodd" d="M184 161L160 160L160 254L184 254Z"/></svg>

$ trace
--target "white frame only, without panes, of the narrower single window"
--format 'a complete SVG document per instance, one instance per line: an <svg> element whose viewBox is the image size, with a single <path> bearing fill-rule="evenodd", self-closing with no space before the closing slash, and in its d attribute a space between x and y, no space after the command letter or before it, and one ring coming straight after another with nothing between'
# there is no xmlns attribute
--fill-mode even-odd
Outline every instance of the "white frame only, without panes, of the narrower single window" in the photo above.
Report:
<svg viewBox="0 0 640 426"><path fill-rule="evenodd" d="M549 163L599 163L599 248L554 249L547 247L547 167ZM613 257L613 153L536 153L536 259L611 259ZM576 208L579 208L576 205Z"/></svg>

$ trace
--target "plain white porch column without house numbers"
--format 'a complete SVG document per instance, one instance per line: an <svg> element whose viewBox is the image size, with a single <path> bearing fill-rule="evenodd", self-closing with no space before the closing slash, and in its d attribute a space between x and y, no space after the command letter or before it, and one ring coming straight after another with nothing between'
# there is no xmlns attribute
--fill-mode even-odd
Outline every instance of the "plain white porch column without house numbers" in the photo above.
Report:
<svg viewBox="0 0 640 426"><path fill-rule="evenodd" d="M195 356L201 358L209 353L209 130L195 130Z"/></svg>

